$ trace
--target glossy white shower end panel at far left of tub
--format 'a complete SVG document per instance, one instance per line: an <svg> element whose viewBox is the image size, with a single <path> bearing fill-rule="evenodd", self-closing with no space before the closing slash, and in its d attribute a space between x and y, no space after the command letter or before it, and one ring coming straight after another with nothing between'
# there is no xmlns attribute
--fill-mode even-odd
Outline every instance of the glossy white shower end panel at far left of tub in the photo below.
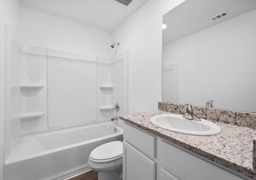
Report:
<svg viewBox="0 0 256 180"><path fill-rule="evenodd" d="M8 29L6 29L6 32ZM21 136L21 60L23 52L13 39L5 36L5 153L9 154Z"/></svg>

